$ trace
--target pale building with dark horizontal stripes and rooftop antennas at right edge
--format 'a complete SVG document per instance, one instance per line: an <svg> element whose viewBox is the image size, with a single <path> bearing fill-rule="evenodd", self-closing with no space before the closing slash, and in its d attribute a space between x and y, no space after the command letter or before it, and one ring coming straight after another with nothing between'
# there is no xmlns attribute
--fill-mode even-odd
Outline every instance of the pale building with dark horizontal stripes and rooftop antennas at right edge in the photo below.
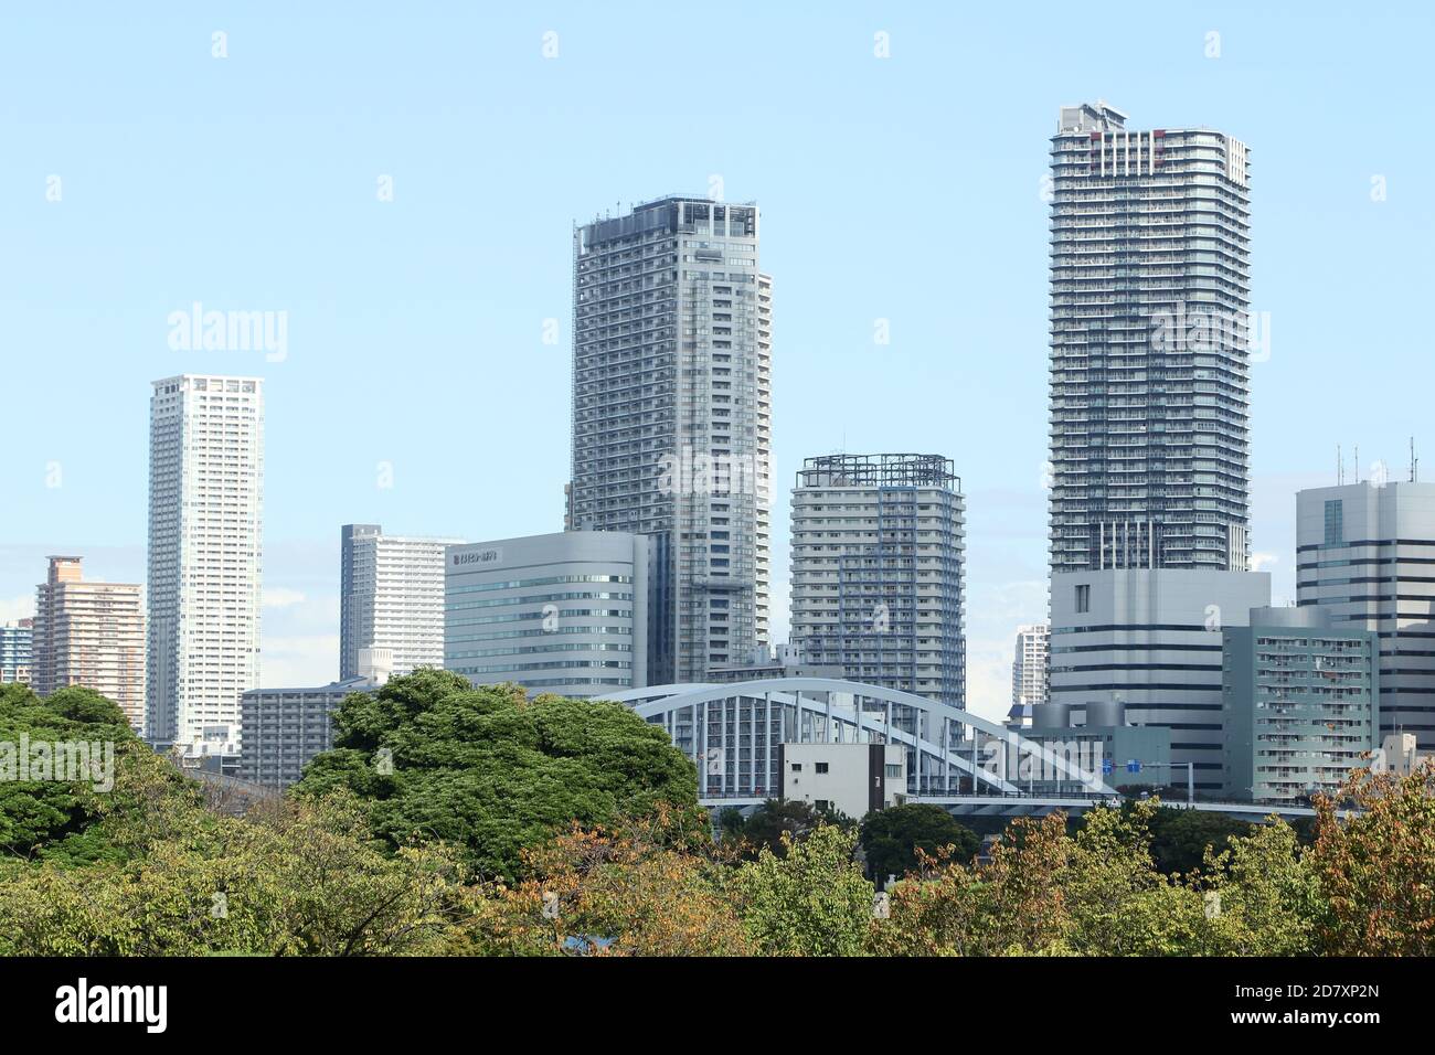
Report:
<svg viewBox="0 0 1435 1055"><path fill-rule="evenodd" d="M1380 637L1380 729L1435 748L1435 484L1296 494L1296 601Z"/></svg>

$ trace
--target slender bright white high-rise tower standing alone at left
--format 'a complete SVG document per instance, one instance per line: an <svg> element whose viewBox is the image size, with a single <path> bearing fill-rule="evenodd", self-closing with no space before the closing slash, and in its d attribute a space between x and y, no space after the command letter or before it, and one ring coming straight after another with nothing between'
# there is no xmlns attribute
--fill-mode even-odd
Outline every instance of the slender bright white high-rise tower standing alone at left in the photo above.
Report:
<svg viewBox="0 0 1435 1055"><path fill-rule="evenodd" d="M235 754L260 683L264 382L182 375L149 400L145 736Z"/></svg>

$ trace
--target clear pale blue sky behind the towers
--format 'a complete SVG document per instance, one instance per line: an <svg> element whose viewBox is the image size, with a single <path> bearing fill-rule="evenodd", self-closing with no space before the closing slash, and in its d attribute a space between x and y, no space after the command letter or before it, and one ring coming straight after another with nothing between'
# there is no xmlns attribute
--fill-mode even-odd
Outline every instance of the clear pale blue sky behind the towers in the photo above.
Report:
<svg viewBox="0 0 1435 1055"><path fill-rule="evenodd" d="M149 382L258 373L264 683L327 680L340 524L561 527L571 225L718 175L761 204L775 280L779 594L804 456L950 455L971 702L1000 713L1012 632L1045 619L1040 181L1058 108L1096 98L1134 126L1250 144L1253 307L1273 337L1253 369L1253 548L1289 597L1293 494L1333 481L1336 444L1402 478L1413 432L1435 472L1432 17L956 7L7 6L0 619L29 614L47 553L142 581ZM166 316L197 300L287 311L288 357L171 350Z"/></svg>

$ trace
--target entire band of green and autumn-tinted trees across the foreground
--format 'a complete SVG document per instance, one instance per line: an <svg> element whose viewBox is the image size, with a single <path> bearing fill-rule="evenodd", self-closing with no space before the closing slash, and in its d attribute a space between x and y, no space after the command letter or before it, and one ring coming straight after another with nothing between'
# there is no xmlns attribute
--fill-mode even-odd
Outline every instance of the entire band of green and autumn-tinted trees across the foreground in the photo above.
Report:
<svg viewBox="0 0 1435 1055"><path fill-rule="evenodd" d="M911 867L877 897L851 822L811 808L715 841L686 758L616 705L423 670L350 698L339 738L235 818L98 695L0 688L0 956L1435 952L1429 768L1355 774L1313 838L1151 800L1022 818L970 860L943 811L893 808L861 840ZM113 782L7 775L22 739L112 742Z"/></svg>

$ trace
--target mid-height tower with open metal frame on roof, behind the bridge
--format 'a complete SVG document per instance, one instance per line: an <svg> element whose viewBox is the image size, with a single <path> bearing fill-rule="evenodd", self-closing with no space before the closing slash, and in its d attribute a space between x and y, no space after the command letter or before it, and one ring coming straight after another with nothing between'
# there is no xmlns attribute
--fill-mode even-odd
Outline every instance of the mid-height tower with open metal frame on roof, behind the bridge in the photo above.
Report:
<svg viewBox="0 0 1435 1055"><path fill-rule="evenodd" d="M941 455L808 458L792 488L792 644L961 706L964 504Z"/></svg>

